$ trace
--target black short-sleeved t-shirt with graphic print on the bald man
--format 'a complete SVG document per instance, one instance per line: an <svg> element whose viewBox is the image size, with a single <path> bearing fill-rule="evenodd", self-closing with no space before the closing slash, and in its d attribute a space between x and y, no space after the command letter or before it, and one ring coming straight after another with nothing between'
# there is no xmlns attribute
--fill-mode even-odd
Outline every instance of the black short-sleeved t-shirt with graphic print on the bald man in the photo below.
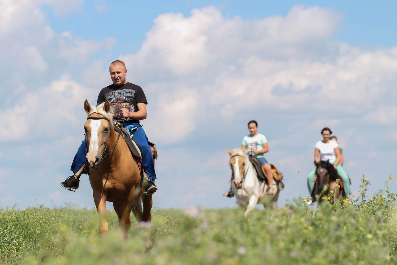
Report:
<svg viewBox="0 0 397 265"><path fill-rule="evenodd" d="M108 85L102 88L98 95L96 105L103 103L107 99L110 103L110 113L112 113L113 120L121 122L123 120L122 108L129 109L130 112L138 111L137 104L145 103L145 93L139 85L132 83L125 83L124 85ZM125 119L128 122L139 123L139 120L131 118Z"/></svg>

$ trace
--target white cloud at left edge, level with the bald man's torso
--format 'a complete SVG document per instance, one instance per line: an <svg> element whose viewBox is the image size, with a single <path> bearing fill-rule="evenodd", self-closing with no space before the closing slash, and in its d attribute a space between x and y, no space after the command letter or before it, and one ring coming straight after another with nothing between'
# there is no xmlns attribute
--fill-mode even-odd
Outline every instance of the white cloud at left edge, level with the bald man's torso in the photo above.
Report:
<svg viewBox="0 0 397 265"><path fill-rule="evenodd" d="M5 122L0 128L3 136L1 141L56 135L63 127L76 124L79 115L84 116L83 102L89 94L89 89L76 83L68 75L62 75L58 81L36 93L28 93L18 104L0 112Z"/></svg>

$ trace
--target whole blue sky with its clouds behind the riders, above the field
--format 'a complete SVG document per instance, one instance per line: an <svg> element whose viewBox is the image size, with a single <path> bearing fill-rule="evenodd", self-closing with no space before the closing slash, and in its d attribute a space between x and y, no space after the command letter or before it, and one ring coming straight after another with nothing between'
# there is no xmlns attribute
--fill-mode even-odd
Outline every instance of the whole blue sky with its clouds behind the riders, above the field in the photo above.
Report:
<svg viewBox="0 0 397 265"><path fill-rule="evenodd" d="M59 183L83 139L83 102L127 64L148 98L156 207L235 207L222 197L235 148L257 120L285 175L279 203L307 195L330 127L357 194L395 174L397 4L392 1L4 1L0 4L0 207L93 206L82 177ZM297 172L299 171L299 174ZM295 180L298 180L295 190ZM392 186L395 190L395 185ZM37 199L37 202L35 200Z"/></svg>

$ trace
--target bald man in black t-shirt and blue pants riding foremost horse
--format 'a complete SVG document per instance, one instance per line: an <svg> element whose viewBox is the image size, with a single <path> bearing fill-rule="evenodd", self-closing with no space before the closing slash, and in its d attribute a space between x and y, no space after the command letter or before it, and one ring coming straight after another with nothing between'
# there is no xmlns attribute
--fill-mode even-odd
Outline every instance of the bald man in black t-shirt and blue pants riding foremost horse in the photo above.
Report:
<svg viewBox="0 0 397 265"><path fill-rule="evenodd" d="M127 69L124 62L119 60L112 62L109 66L109 73L113 84L102 88L96 105L107 99L110 103L110 113L113 120L121 123L125 118L123 126L127 132L133 134L132 139L138 145L142 154L142 167L148 176L148 180L145 180L146 193L156 192L157 187L153 182L156 179L156 172L154 171L152 151L148 146L146 133L139 123L140 120L145 120L147 116L146 104L148 103L145 93L139 85L127 82ZM85 146L84 140L77 150L70 168L73 175L67 177L61 183L61 186L67 190L75 191L79 188L80 176L77 172L85 164L87 156Z"/></svg>

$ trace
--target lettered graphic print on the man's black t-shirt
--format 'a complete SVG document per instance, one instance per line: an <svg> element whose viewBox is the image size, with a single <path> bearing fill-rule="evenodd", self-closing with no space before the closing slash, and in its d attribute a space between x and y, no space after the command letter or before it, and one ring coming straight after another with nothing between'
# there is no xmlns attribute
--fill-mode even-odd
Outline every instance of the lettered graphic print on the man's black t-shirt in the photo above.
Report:
<svg viewBox="0 0 397 265"><path fill-rule="evenodd" d="M110 112L113 118L123 118L121 109L126 108L130 112L135 112L134 103L129 99L135 100L135 89L120 89L106 94L106 99L110 103Z"/></svg>

